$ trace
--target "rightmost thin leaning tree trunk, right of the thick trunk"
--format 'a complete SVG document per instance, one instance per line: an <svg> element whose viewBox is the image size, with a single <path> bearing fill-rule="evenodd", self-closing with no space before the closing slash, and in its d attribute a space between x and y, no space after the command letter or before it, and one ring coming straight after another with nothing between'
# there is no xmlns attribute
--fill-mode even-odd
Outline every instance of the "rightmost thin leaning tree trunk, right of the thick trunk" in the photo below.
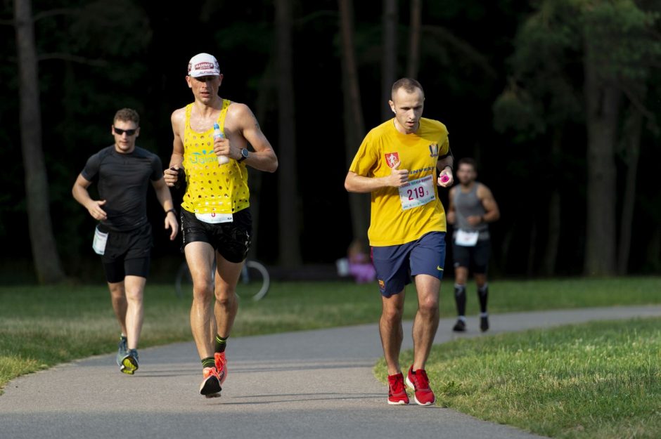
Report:
<svg viewBox="0 0 661 439"><path fill-rule="evenodd" d="M634 223L634 202L636 201L636 176L638 173L638 152L641 145L643 113L631 105L631 113L624 126L624 156L627 163L627 176L622 200L622 221L620 223L620 245L617 247L617 273L626 275L631 251L631 225Z"/></svg>

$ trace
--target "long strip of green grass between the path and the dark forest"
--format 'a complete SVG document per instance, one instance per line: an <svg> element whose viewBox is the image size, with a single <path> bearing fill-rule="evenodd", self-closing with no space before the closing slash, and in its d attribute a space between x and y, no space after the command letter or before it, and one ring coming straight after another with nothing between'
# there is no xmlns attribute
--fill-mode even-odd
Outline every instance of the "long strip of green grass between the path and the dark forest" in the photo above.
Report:
<svg viewBox="0 0 661 439"><path fill-rule="evenodd" d="M441 313L454 315L451 280L442 287ZM475 293L475 287L471 287ZM505 313L661 303L661 277L608 280L498 281L490 287L490 310ZM192 341L190 299L177 299L174 285L147 284L140 346ZM409 288L404 317L416 310ZM468 313L477 311L475 294ZM374 323L380 294L373 285L350 282L274 283L266 299L240 305L232 336ZM90 355L112 353L119 329L103 284L61 287L0 287L0 388L10 379Z"/></svg>

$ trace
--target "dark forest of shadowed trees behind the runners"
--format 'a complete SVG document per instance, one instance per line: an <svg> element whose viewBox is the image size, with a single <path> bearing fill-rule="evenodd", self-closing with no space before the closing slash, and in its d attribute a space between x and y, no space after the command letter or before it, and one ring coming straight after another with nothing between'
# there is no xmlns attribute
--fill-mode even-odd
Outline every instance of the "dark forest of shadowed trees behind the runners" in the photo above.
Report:
<svg viewBox="0 0 661 439"><path fill-rule="evenodd" d="M191 56L214 54L280 159L252 173L250 257L332 266L366 235L343 187L399 77L474 157L501 219L496 277L661 272L660 1L0 0L0 279L98 281L94 220L71 196L115 111L164 163ZM440 191L447 207L447 193ZM173 192L175 202L181 191ZM153 276L183 255L149 194ZM36 258L34 255L37 255ZM451 256L451 254L449 254ZM451 266L447 263L447 266Z"/></svg>

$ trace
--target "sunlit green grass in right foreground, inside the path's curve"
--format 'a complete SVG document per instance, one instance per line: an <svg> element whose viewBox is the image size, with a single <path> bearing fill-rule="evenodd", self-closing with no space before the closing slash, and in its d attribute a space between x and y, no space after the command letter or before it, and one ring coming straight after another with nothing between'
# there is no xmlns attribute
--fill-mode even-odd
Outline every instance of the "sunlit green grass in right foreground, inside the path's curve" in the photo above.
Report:
<svg viewBox="0 0 661 439"><path fill-rule="evenodd" d="M593 322L432 348L437 404L553 438L661 438L661 319ZM402 353L402 364L412 353ZM381 360L377 376L385 382Z"/></svg>

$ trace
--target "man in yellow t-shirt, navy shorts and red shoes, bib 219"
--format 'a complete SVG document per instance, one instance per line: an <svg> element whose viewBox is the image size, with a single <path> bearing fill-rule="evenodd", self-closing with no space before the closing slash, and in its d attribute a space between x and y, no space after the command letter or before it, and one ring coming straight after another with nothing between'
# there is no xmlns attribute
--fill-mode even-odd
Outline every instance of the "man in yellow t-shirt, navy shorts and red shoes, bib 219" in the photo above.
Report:
<svg viewBox="0 0 661 439"><path fill-rule="evenodd" d="M452 185L454 160L444 124L422 117L424 100L415 79L393 84L389 103L394 118L367 134L345 180L349 192L371 192L368 236L382 296L379 329L392 405L409 403L404 380L419 405L435 402L425 362L438 327L445 263L445 212L437 185ZM413 365L404 379L399 350L404 287L411 276L416 280L418 313L413 321Z"/></svg>

